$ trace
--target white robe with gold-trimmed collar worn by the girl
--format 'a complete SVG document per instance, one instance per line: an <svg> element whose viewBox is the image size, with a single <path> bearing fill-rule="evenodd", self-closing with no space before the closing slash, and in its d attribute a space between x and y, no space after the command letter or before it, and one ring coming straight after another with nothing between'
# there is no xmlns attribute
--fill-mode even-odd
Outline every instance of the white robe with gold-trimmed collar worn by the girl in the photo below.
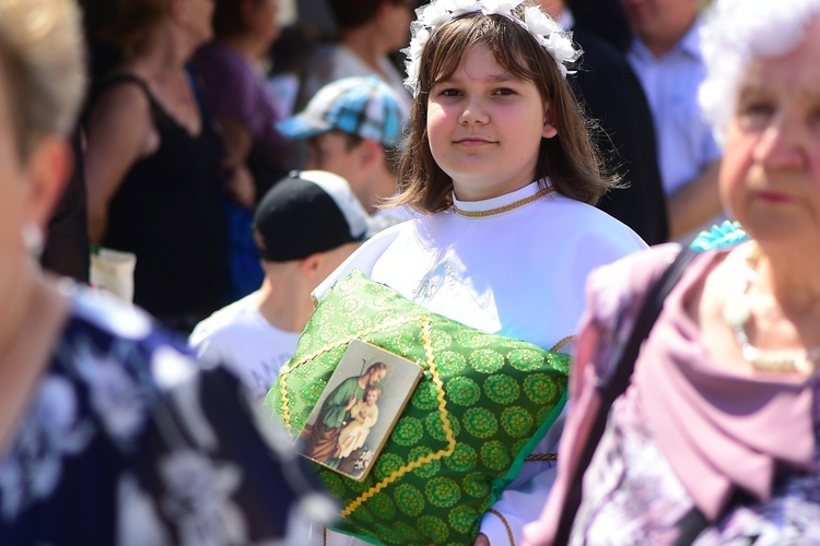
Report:
<svg viewBox="0 0 820 546"><path fill-rule="evenodd" d="M534 195L537 182L499 198L460 202L488 211ZM503 214L465 217L446 211L388 228L365 242L314 293L360 269L417 304L466 325L535 343L543 348L576 333L584 283L599 265L646 248L629 227L594 206L558 193ZM566 351L566 348L562 349ZM535 453L557 453L563 415ZM493 506L520 544L524 524L538 519L555 476L554 463L526 463ZM312 544L321 544L315 530ZM481 532L492 545L509 538L503 522L485 513ZM328 532L328 544L366 544Z"/></svg>

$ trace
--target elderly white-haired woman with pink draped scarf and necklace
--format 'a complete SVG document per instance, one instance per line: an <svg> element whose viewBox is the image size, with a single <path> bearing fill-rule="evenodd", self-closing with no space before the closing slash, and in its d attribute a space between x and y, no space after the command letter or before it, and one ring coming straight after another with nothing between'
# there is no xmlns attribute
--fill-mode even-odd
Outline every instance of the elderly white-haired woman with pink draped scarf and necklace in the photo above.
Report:
<svg viewBox="0 0 820 546"><path fill-rule="evenodd" d="M704 51L721 195L751 240L699 256L666 298L585 474L571 544L820 542L820 1L717 0ZM676 251L589 278L562 464L530 545L555 542L597 378Z"/></svg>

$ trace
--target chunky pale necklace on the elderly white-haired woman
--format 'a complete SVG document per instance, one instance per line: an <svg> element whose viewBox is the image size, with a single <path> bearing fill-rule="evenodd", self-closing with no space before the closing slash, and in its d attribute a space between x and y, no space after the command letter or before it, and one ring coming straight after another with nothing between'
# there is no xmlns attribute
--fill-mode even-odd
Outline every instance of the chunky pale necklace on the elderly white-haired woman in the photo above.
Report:
<svg viewBox="0 0 820 546"><path fill-rule="evenodd" d="M723 320L735 332L735 341L740 347L743 360L752 368L763 371L785 371L812 373L816 363L820 359L820 346L809 349L777 349L764 351L749 342L747 325L751 320L751 305L749 304L749 286L757 278L755 266L760 258L760 248L750 242L746 256L747 270L740 293L729 297L724 304Z"/></svg>

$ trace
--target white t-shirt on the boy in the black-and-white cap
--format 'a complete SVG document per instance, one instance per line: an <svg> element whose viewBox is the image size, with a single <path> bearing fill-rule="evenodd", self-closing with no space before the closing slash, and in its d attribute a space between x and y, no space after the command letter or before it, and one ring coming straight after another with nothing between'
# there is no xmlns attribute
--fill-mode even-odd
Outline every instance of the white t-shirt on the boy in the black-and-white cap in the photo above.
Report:
<svg viewBox="0 0 820 546"><path fill-rule="evenodd" d="M225 363L254 394L263 399L279 369L296 352L301 332L285 332L265 320L255 292L197 324L188 343L197 354Z"/></svg>

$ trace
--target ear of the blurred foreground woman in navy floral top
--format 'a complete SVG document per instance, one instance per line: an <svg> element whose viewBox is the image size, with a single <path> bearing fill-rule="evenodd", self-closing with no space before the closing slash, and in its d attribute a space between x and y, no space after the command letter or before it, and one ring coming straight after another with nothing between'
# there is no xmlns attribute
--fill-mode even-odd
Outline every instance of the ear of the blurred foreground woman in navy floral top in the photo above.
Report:
<svg viewBox="0 0 820 546"><path fill-rule="evenodd" d="M34 147L26 161L28 219L44 227L71 176L71 146L62 136L47 136Z"/></svg>

